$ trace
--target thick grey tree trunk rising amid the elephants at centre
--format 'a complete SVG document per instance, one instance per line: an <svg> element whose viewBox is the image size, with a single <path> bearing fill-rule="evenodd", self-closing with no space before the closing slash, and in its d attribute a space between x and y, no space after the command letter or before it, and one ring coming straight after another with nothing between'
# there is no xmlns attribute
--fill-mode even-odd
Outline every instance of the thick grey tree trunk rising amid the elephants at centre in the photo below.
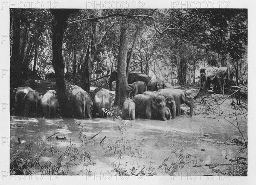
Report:
<svg viewBox="0 0 256 185"><path fill-rule="evenodd" d="M119 54L117 63L117 81L116 81L116 97L114 107L116 113L121 110L125 98L128 97L128 82L126 77L126 59L128 51L128 25L126 22L121 23L121 34L119 43Z"/></svg>

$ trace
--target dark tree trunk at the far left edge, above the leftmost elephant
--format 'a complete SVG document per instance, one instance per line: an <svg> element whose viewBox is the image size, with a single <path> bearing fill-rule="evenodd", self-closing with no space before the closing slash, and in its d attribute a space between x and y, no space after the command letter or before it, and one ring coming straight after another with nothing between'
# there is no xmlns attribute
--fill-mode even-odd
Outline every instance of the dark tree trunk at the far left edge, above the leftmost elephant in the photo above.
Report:
<svg viewBox="0 0 256 185"><path fill-rule="evenodd" d="M12 56L10 58L10 86L19 87L21 84L20 60L20 10L12 9Z"/></svg>

